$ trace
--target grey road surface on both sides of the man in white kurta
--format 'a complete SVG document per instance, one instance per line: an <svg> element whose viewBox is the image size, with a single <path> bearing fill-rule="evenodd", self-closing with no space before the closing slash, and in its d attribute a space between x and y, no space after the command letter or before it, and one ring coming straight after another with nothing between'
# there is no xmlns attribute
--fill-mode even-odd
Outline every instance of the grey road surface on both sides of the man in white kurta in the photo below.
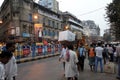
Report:
<svg viewBox="0 0 120 80"><path fill-rule="evenodd" d="M91 72L87 59L85 62L79 80L116 80L116 74ZM18 72L16 80L65 80L58 56L18 64Z"/></svg>

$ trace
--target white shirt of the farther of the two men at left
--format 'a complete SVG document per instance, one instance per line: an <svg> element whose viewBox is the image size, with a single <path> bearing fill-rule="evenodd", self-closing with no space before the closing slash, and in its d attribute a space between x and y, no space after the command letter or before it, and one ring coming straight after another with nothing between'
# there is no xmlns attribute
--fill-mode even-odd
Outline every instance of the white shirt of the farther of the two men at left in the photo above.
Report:
<svg viewBox="0 0 120 80"><path fill-rule="evenodd" d="M13 77L17 75L17 64L14 56L5 65L5 76L7 80L13 80Z"/></svg>

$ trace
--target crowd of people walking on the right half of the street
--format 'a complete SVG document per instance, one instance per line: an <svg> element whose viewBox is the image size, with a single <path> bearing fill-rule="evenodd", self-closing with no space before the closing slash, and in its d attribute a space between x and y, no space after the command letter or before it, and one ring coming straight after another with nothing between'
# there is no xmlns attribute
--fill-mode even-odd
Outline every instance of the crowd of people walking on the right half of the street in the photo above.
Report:
<svg viewBox="0 0 120 80"><path fill-rule="evenodd" d="M76 48L76 49L75 49ZM78 80L79 72L84 71L84 61L89 60L90 71L104 72L107 62L118 64L117 79L120 79L120 46L112 44L91 44L86 48L82 43L77 47L72 44L62 44L59 61L63 62L64 76L67 80ZM100 71L98 70L100 66Z"/></svg>

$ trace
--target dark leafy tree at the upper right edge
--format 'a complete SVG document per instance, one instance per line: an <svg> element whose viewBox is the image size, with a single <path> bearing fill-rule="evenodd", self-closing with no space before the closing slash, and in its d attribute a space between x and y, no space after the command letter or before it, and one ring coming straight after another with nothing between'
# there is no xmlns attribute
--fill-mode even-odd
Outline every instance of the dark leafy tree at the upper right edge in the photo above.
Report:
<svg viewBox="0 0 120 80"><path fill-rule="evenodd" d="M113 0L106 7L106 18L110 23L110 29L116 40L120 40L120 0Z"/></svg>

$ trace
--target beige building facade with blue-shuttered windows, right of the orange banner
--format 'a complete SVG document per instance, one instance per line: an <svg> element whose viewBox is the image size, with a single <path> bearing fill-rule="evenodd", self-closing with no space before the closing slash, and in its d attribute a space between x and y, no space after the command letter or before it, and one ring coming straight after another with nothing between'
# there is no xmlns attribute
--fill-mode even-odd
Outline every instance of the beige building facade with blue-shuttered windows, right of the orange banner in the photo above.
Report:
<svg viewBox="0 0 120 80"><path fill-rule="evenodd" d="M59 31L62 31L62 17L60 14L55 13L48 8L45 8L39 4L34 5L38 15L40 16L39 20L43 25L42 35L44 39L48 41L58 40Z"/></svg>

